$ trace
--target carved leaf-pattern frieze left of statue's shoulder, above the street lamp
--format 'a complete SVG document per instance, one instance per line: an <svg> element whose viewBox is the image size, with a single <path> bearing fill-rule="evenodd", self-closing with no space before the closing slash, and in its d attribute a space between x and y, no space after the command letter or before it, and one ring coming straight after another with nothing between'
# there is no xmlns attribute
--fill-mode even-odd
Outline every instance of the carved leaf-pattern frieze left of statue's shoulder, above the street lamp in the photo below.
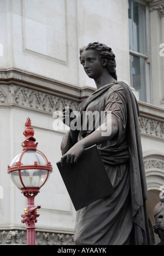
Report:
<svg viewBox="0 0 164 256"><path fill-rule="evenodd" d="M62 111L64 106L69 106L74 110L77 104L77 102L67 100L66 98L60 98L17 85L2 85L0 87L0 106L14 105L53 114L54 111Z"/></svg>

